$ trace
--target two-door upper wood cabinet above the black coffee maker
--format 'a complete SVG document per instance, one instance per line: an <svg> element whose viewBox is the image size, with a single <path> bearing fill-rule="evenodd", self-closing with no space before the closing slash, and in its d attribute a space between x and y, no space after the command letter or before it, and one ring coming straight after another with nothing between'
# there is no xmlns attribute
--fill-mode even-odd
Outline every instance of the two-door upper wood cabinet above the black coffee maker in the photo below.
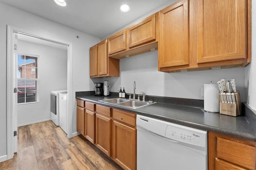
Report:
<svg viewBox="0 0 256 170"><path fill-rule="evenodd" d="M90 48L90 77L119 76L119 60L109 58L107 40Z"/></svg>

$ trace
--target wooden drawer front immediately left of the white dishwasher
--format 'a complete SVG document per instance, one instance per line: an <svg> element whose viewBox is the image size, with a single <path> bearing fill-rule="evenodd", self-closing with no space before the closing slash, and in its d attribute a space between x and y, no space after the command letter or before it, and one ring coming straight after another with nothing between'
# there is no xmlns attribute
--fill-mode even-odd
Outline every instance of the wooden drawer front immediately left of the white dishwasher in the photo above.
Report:
<svg viewBox="0 0 256 170"><path fill-rule="evenodd" d="M136 124L136 115L132 113L113 109L113 117L116 120L122 121L132 126L135 126Z"/></svg>

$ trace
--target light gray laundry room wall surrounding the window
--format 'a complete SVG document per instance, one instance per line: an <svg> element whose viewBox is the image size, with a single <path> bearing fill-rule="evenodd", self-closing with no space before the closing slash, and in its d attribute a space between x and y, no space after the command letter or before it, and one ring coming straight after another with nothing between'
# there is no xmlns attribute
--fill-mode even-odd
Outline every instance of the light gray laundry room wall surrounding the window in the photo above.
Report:
<svg viewBox="0 0 256 170"><path fill-rule="evenodd" d="M67 89L67 50L18 40L18 53L39 55L39 103L18 105L18 126L50 119L50 92Z"/></svg>

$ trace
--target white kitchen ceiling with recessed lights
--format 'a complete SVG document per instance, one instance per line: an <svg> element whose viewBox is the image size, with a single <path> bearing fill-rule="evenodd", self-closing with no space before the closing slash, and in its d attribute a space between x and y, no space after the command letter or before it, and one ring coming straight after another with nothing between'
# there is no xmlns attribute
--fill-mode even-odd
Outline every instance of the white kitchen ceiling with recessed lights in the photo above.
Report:
<svg viewBox="0 0 256 170"><path fill-rule="evenodd" d="M173 0L66 0L67 6L61 7L54 0L0 0L100 39L170 1ZM123 3L130 5L129 12L120 12Z"/></svg>

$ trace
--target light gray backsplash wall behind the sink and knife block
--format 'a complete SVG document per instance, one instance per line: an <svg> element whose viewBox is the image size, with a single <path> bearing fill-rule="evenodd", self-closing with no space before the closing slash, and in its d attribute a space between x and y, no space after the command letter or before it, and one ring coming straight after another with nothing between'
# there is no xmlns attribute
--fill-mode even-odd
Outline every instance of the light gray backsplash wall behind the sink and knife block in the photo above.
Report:
<svg viewBox="0 0 256 170"><path fill-rule="evenodd" d="M245 99L245 68L205 70L192 72L165 73L158 71L158 51L145 53L120 60L120 77L92 78L93 82L110 81L111 92L118 92L118 86L124 87L126 94L133 94L133 82L136 81L136 94L166 96L175 98L204 99L202 86L216 83L222 78L236 80L241 100Z"/></svg>

